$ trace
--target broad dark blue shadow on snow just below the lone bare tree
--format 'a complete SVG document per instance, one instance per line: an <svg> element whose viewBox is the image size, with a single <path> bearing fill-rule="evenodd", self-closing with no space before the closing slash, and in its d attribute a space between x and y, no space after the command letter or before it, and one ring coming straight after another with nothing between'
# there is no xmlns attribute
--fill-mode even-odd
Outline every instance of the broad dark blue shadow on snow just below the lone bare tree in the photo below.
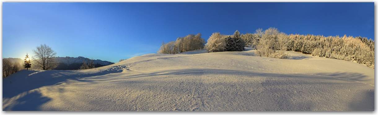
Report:
<svg viewBox="0 0 378 115"><path fill-rule="evenodd" d="M69 79L80 79L91 76L102 76L120 73L122 70L104 70L98 73L82 74L78 70L21 70L3 78L3 100L23 92L43 86L58 85Z"/></svg>

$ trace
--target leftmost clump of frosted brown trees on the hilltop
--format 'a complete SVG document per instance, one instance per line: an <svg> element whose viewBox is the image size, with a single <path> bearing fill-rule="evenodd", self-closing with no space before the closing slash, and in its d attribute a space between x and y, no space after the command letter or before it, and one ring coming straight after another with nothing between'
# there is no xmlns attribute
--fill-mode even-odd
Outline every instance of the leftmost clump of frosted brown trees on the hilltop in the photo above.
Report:
<svg viewBox="0 0 378 115"><path fill-rule="evenodd" d="M204 48L206 41L201 38L201 33L197 35L189 34L185 37L178 37L176 41L161 44L158 53L177 54L185 51L201 50Z"/></svg>

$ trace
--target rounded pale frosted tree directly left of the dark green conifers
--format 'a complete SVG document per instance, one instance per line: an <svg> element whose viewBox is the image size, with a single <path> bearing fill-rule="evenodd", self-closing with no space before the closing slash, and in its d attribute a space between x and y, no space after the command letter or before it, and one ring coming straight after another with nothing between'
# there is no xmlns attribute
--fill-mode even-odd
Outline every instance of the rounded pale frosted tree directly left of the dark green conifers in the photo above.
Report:
<svg viewBox="0 0 378 115"><path fill-rule="evenodd" d="M226 50L225 35L222 35L218 32L212 33L206 44L206 50L208 52L219 52Z"/></svg>

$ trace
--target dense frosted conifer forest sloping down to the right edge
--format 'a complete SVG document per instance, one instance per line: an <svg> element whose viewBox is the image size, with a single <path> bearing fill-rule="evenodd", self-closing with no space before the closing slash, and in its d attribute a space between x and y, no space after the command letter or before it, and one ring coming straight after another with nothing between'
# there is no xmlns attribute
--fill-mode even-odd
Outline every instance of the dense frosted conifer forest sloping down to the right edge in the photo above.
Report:
<svg viewBox="0 0 378 115"><path fill-rule="evenodd" d="M366 37L288 35L288 50L313 56L342 59L374 68L374 40Z"/></svg>

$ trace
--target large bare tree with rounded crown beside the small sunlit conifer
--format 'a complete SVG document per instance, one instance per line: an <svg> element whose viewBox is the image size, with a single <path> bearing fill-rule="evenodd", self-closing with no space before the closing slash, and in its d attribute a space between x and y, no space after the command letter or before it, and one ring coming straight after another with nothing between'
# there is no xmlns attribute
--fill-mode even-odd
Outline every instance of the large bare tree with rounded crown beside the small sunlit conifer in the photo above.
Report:
<svg viewBox="0 0 378 115"><path fill-rule="evenodd" d="M32 64L42 70L51 70L57 67L58 63L55 61L56 52L48 47L46 44L33 49L34 56L31 57Z"/></svg>

